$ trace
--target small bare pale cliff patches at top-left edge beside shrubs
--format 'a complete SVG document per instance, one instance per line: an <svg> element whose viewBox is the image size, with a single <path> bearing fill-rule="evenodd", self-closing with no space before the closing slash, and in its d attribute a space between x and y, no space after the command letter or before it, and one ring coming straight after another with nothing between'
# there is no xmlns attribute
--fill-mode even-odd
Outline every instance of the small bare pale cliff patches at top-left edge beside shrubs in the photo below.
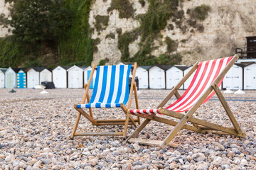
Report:
<svg viewBox="0 0 256 170"><path fill-rule="evenodd" d="M5 4L4 0L0 0L0 15L5 16L8 19L11 19L9 16L10 15L9 7L10 7L9 2L7 2ZM7 26L7 28L6 28L6 27L0 25L0 37L5 37L6 35L11 35L11 31L8 31L9 29L11 29L10 26Z"/></svg>

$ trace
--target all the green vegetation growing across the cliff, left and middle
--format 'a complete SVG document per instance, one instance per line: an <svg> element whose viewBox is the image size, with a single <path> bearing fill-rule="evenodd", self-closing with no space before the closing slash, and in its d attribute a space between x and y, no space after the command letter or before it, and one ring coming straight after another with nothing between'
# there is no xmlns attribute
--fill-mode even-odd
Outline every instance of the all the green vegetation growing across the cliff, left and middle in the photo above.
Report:
<svg viewBox="0 0 256 170"><path fill-rule="evenodd" d="M95 29L89 26L89 13L92 0L6 0L14 1L11 18L0 15L0 25L13 29L13 35L0 38L0 67L55 67L63 65L90 65L93 53L97 52L100 38L93 40L91 34L98 34L108 26L110 16L95 16ZM162 35L161 30L180 29L181 33L198 30L203 32L203 24L210 6L201 5L186 11L180 8L183 0L139 0L140 8L149 4L148 11L134 16L135 9L129 0L112 0L107 12L119 11L119 18L133 18L140 23L138 28L122 32L117 28L118 45L122 62L146 64L178 64L182 56L176 52L178 43L186 40L172 40ZM173 33L174 34L174 33ZM105 38L115 39L114 32ZM129 45L139 40L139 50L133 56ZM166 52L159 56L159 47L165 46ZM162 49L161 49L162 50ZM111 60L111 59L110 59ZM105 64L109 60L101 60Z"/></svg>

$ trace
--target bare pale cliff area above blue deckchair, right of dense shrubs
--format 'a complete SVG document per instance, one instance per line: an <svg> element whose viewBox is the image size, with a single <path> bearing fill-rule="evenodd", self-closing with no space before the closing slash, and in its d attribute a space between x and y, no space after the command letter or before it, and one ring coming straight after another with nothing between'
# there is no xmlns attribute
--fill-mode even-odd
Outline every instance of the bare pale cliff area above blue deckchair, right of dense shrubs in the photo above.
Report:
<svg viewBox="0 0 256 170"><path fill-rule="evenodd" d="M146 9L149 6L149 4L146 3L144 8L141 8L139 0L131 1L131 3L133 4L133 8L136 9L135 15L146 13ZM89 16L89 24L91 28L95 28L95 16L110 16L107 28L99 32L94 29L94 33L92 34L93 39L100 38L100 44L97 45L98 51L93 54L92 64L98 64L100 60L104 60L105 58L110 60L107 64L118 64L121 59L121 52L117 47L117 28L121 28L122 33L125 33L139 27L139 21L133 18L119 18L119 11L115 9L107 13L107 8L110 8L110 4L111 0L96 0L91 7ZM110 33L114 33L114 39L106 38L106 35ZM139 43L139 40L136 42ZM135 54L139 50L139 46L136 42L135 45L130 45L129 50L132 54Z"/></svg>

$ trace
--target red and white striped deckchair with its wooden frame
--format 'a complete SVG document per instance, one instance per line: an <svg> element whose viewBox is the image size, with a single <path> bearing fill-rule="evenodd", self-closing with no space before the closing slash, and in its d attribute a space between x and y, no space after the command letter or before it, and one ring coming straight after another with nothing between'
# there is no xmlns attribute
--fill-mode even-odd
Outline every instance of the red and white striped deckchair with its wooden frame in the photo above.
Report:
<svg viewBox="0 0 256 170"><path fill-rule="evenodd" d="M132 135L127 139L127 142L139 142L148 145L159 144L162 148L164 148L169 144L169 142L171 142L171 140L174 138L177 132L181 130L181 128L202 133L213 132L218 134L229 134L245 137L245 133L242 133L240 130L240 127L235 120L235 117L230 110L228 103L225 101L225 98L219 89L219 86L223 81L223 77L228 72L230 67L233 66L236 60L238 60L238 55L206 62L196 62L188 74L186 74L186 76L178 82L174 89L171 90L170 94L164 98L164 101L162 101L156 109L129 109L128 113L146 118L146 120L144 120L142 125L140 125L137 130L132 133ZM183 85L186 79L188 79L188 77L193 74L195 70L196 74L194 75L191 84L188 86L188 89L186 89L184 94L180 96L180 94L178 94L178 89ZM225 108L225 111L228 114L228 117L230 118L234 128L225 128L221 125L209 123L206 120L193 118L192 115L195 113L198 107L201 106L201 104L206 103L215 93L220 99L223 108ZM175 101L170 106L163 108L172 96L176 96L177 101ZM185 114L182 112L185 112ZM175 122L174 120L169 120L157 116L159 114L169 115L181 120L179 122ZM142 131L142 129L150 122L150 120L156 120L158 122L173 125L175 127L173 130L171 130L170 134L163 142L134 138L139 135L139 132ZM186 124L187 122L191 122L192 125Z"/></svg>

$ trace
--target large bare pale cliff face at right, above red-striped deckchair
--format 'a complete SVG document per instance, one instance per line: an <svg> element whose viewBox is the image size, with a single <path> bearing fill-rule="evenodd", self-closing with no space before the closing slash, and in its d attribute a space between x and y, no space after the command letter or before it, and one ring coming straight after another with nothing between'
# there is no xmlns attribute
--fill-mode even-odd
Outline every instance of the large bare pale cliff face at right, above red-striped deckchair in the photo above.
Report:
<svg viewBox="0 0 256 170"><path fill-rule="evenodd" d="M179 43L178 52L183 55L183 64L193 64L196 60L209 60L228 57L235 54L235 47L245 46L245 37L256 34L256 4L247 1L184 1L183 10L195 8L201 4L210 6L211 11L203 21L203 33L165 34L174 40L186 40ZM189 54L191 53L191 54Z"/></svg>

